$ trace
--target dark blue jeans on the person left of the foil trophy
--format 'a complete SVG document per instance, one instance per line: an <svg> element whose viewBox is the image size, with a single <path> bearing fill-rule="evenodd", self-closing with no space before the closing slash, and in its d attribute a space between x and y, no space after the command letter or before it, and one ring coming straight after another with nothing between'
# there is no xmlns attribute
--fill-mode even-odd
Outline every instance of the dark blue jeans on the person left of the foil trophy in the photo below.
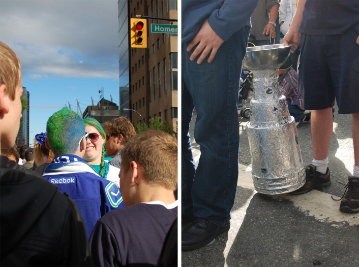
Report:
<svg viewBox="0 0 359 267"><path fill-rule="evenodd" d="M233 34L211 63L191 61L188 43L182 44L182 213L219 226L229 224L237 185L237 99L249 30L245 26ZM194 109L201 152L197 168L189 135Z"/></svg>

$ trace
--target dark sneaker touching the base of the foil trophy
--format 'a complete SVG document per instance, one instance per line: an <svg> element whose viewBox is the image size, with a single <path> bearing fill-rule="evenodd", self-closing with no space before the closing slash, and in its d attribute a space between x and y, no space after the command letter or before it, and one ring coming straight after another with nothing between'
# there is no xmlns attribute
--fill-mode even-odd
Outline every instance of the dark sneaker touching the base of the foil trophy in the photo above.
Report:
<svg viewBox="0 0 359 267"><path fill-rule="evenodd" d="M299 189L291 192L293 195L301 195L308 193L312 189L328 186L332 184L331 174L329 168L326 168L326 173L322 174L316 171L317 168L313 164L306 167L306 183Z"/></svg>

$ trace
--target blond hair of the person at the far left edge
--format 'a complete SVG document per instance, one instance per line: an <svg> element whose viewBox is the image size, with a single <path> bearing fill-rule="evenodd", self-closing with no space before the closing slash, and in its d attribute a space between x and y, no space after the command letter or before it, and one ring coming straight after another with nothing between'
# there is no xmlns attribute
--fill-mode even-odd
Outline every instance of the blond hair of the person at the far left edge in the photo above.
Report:
<svg viewBox="0 0 359 267"><path fill-rule="evenodd" d="M6 93L15 99L16 87L21 84L21 64L15 52L0 41L0 85L5 84Z"/></svg>

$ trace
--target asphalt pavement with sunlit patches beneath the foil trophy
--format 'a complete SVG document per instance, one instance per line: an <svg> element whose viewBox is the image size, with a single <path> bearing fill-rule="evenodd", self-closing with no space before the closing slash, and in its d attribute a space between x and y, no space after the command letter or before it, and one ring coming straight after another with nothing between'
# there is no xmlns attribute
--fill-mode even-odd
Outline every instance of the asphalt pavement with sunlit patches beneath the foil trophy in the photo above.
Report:
<svg viewBox="0 0 359 267"><path fill-rule="evenodd" d="M339 211L353 169L351 115L334 115L328 155L332 185L303 195L268 196L253 186L246 127L240 119L240 169L231 228L203 248L182 251L182 266L359 266L359 214ZM190 134L196 114L191 122ZM298 130L302 158L312 161L310 123ZM199 145L193 140L193 154Z"/></svg>

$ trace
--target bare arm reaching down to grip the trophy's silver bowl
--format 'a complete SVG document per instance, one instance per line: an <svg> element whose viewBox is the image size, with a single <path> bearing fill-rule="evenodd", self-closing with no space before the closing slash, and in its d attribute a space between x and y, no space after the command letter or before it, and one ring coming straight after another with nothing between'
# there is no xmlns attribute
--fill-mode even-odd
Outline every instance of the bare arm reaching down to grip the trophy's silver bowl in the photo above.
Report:
<svg viewBox="0 0 359 267"><path fill-rule="evenodd" d="M304 6L307 0L298 0L298 5L296 7L296 11L292 22L290 23L289 30L287 34L283 38L284 45L291 45L292 53L298 48L299 40L300 40L300 32L299 27L301 26L303 20L303 11Z"/></svg>

